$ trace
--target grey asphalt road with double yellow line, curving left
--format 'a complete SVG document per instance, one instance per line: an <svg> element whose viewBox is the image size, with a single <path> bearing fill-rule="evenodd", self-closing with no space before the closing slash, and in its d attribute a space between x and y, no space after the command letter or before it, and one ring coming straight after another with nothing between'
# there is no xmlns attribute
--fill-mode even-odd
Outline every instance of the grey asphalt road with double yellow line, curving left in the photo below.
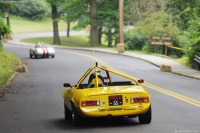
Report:
<svg viewBox="0 0 200 133"><path fill-rule="evenodd" d="M200 80L162 73L150 63L120 55L56 49L54 59L30 59L30 46L5 48L26 62L29 72L17 74L0 102L0 133L200 133ZM63 83L75 84L95 61L146 81L151 124L123 118L88 120L73 127L64 120Z"/></svg>

